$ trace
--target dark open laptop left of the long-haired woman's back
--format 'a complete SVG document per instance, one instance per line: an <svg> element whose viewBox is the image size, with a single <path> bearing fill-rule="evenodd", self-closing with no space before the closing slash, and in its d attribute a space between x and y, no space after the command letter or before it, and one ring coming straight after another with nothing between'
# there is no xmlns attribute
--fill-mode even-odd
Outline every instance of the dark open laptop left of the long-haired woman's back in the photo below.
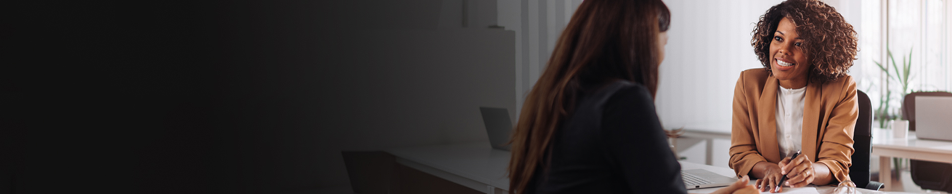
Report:
<svg viewBox="0 0 952 194"><path fill-rule="evenodd" d="M503 107L479 107L483 114L483 124L486 125L486 134L489 135L489 144L492 148L509 150L509 136L512 131L512 121L509 120L509 110Z"/></svg>

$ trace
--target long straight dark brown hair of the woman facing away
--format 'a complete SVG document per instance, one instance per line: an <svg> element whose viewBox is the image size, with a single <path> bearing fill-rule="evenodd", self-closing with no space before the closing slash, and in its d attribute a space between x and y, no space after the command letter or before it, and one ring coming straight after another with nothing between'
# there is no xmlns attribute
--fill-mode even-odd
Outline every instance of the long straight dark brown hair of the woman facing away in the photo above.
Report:
<svg viewBox="0 0 952 194"><path fill-rule="evenodd" d="M552 136L583 90L625 80L654 96L658 34L669 23L661 0L585 0L575 10L513 130L509 191L525 193L536 170L545 170Z"/></svg>

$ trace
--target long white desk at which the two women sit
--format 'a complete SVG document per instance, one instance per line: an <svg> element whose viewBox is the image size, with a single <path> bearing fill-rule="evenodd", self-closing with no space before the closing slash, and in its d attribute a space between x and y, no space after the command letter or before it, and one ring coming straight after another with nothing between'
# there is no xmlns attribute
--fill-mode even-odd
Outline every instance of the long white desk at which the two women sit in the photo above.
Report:
<svg viewBox="0 0 952 194"><path fill-rule="evenodd" d="M429 145L386 150L396 157L396 163L406 165L455 184L464 185L488 194L507 193L509 179L506 166L509 152L493 149L489 143ZM682 169L706 169L727 177L734 177L734 170L726 167L681 162ZM753 183L753 182L751 182ZM830 193L832 186L820 186L821 193ZM717 188L693 189L690 193L710 193ZM862 193L883 193L857 189Z"/></svg>

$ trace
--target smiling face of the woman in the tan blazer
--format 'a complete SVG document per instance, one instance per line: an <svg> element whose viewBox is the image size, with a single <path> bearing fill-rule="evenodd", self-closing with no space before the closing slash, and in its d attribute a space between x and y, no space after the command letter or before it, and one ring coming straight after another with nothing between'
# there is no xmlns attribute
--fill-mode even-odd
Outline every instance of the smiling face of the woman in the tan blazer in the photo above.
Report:
<svg viewBox="0 0 952 194"><path fill-rule="evenodd" d="M773 41L770 42L770 68L773 76L780 80L785 88L806 86L807 73L811 64L803 50L803 39L797 33L793 21L784 17L777 25Z"/></svg>

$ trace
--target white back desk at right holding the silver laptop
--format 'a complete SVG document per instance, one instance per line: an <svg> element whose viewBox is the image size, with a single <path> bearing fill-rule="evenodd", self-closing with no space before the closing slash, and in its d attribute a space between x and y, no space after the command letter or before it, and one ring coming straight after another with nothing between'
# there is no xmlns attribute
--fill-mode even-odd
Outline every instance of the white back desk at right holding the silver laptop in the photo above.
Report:
<svg viewBox="0 0 952 194"><path fill-rule="evenodd" d="M952 142L920 140L915 131L906 138L894 138L891 130L873 129L873 155L880 156L880 182L885 189L892 188L892 157L908 158L939 163L952 163Z"/></svg>

